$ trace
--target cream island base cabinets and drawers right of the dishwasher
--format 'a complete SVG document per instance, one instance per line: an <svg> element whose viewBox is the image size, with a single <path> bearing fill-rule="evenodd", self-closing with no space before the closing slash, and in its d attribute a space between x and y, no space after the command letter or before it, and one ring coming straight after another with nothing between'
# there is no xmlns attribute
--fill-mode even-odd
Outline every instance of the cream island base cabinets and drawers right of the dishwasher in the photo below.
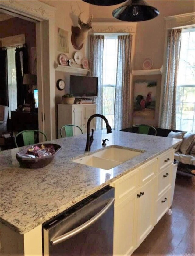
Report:
<svg viewBox="0 0 195 256"><path fill-rule="evenodd" d="M116 179L113 255L131 255L171 206L174 149Z"/></svg>

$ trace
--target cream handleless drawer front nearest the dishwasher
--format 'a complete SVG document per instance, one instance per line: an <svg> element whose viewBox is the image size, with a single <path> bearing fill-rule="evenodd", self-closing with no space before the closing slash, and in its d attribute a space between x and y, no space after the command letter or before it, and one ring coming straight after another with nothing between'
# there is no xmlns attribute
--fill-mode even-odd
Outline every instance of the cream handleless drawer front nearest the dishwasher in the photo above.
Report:
<svg viewBox="0 0 195 256"><path fill-rule="evenodd" d="M139 169L136 169L110 184L115 188L115 206L137 190Z"/></svg>

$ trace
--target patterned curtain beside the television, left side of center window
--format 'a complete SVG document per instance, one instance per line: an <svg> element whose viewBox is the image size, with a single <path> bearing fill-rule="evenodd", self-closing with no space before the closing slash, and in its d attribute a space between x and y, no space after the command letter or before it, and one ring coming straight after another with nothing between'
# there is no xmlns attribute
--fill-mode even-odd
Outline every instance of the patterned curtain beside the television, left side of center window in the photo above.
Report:
<svg viewBox="0 0 195 256"><path fill-rule="evenodd" d="M97 113L102 114L102 74L103 74L103 51L104 51L104 36L90 35L90 75L98 77L98 98ZM102 119L96 119L96 130L102 129Z"/></svg>

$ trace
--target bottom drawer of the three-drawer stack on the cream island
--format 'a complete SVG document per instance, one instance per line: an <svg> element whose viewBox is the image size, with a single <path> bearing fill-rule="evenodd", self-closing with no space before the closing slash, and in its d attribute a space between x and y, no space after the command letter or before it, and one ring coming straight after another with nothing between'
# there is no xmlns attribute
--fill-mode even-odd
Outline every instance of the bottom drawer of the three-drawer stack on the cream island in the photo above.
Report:
<svg viewBox="0 0 195 256"><path fill-rule="evenodd" d="M155 224L162 218L170 207L171 186L155 202Z"/></svg>

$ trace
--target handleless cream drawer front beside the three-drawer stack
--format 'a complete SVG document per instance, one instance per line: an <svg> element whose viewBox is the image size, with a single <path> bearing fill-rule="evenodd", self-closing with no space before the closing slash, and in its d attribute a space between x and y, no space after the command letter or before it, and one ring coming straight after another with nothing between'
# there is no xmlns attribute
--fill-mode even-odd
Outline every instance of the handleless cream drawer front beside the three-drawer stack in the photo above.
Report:
<svg viewBox="0 0 195 256"><path fill-rule="evenodd" d="M146 184L156 175L157 158L149 161L140 168L140 186Z"/></svg>

